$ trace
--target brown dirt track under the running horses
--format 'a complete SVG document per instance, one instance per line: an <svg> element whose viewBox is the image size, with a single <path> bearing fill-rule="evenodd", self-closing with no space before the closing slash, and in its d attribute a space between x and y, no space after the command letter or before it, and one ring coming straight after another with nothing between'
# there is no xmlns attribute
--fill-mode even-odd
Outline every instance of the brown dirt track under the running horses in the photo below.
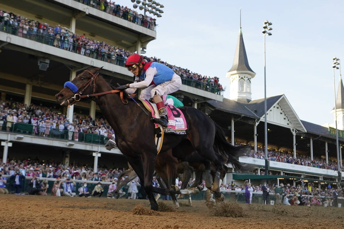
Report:
<svg viewBox="0 0 344 229"><path fill-rule="evenodd" d="M54 197L1 195L0 228L46 229L213 229L213 228L344 228L344 208L245 205L245 216L215 217L204 201L182 206L176 212L159 212L158 216L134 215L141 204L149 209L148 200L108 199L105 197ZM161 202L160 200L158 202ZM172 207L171 201L162 201Z"/></svg>

